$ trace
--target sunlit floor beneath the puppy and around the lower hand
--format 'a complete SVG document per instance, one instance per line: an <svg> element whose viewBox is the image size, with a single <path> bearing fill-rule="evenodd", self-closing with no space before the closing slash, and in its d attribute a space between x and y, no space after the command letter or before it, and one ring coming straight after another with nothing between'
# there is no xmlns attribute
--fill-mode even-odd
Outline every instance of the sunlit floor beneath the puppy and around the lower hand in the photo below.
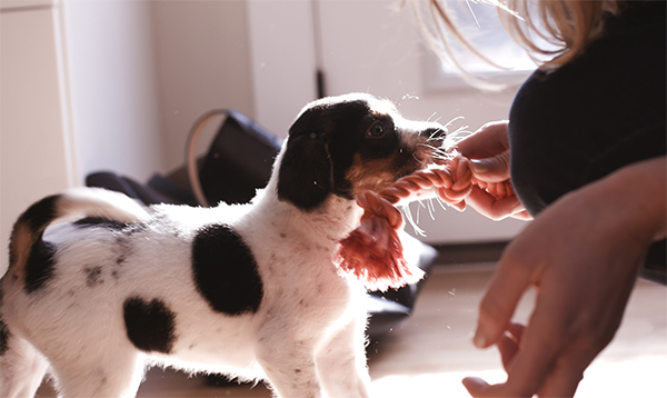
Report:
<svg viewBox="0 0 667 398"><path fill-rule="evenodd" d="M492 265L436 267L410 318L369 347L372 394L382 398L468 397L460 380L501 381L499 356L470 342ZM525 320L534 296L521 301ZM577 397L667 397L667 288L638 281L615 340L585 374ZM38 396L52 397L43 386ZM209 387L201 377L152 369L138 397L271 397L262 385Z"/></svg>

